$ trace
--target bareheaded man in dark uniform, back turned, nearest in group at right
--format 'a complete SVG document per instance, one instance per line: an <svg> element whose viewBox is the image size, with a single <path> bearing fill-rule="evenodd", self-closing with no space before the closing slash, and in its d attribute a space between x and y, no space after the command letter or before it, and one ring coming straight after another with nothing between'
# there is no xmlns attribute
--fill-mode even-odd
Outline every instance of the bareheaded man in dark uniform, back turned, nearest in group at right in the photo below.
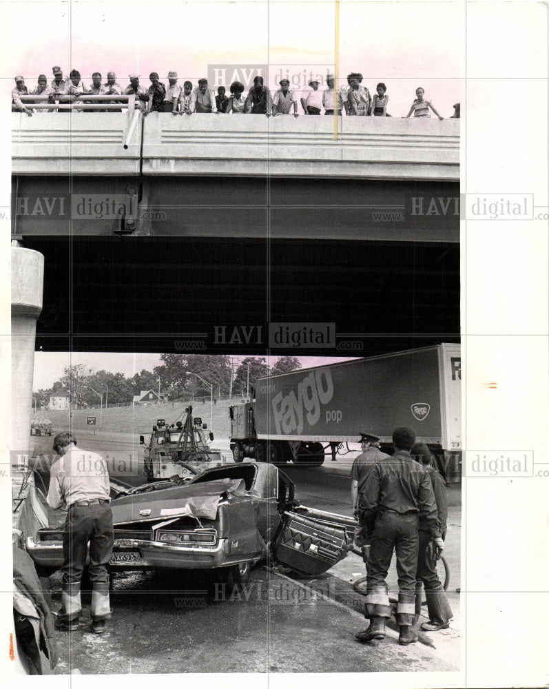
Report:
<svg viewBox="0 0 549 689"><path fill-rule="evenodd" d="M419 550L419 519L431 535L437 554L444 544L439 532L437 507L431 479L424 466L415 462L410 451L415 442L412 429L393 432L395 453L376 462L369 471L362 491L364 524L371 536L366 563L366 617L370 626L356 637L360 641L384 639L385 621L391 616L386 577L393 551L398 575L397 625L399 643L407 646L417 641L412 630L415 617L415 575Z"/></svg>

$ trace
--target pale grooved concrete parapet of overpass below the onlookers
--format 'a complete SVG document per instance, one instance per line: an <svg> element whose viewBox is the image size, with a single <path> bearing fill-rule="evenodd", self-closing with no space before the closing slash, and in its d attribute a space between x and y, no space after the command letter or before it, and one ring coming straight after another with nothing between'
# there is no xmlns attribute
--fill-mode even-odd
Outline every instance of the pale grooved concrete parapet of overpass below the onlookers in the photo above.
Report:
<svg viewBox="0 0 549 689"><path fill-rule="evenodd" d="M12 114L14 174L459 179L459 120L329 116Z"/></svg>

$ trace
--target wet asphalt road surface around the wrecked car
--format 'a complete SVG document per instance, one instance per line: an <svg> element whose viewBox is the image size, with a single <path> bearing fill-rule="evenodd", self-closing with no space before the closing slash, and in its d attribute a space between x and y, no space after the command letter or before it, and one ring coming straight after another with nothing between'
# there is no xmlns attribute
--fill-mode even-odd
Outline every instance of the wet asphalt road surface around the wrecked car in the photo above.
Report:
<svg viewBox="0 0 549 689"><path fill-rule="evenodd" d="M143 482L138 439L122 434L76 433L79 446L110 455L125 480ZM51 439L33 438L45 486ZM228 443L214 442L228 455ZM227 448L225 448L227 445ZM124 460L124 462L121 462ZM284 471L296 484L301 504L350 514L349 475L339 463ZM122 479L122 475L119 476ZM40 486L40 482L38 482ZM457 509L457 508L456 508ZM455 530L457 531L457 530ZM449 540L455 540L451 548ZM459 577L459 531L448 536ZM457 652L439 652L430 639L399 646L388 630L384 641L360 644L354 635L367 626L363 597L351 582L364 574L352 553L318 579L295 579L279 568L257 566L242 588L227 588L211 575L130 572L114 577L107 631L90 632L89 594L74 633L58 632L61 661L54 672L82 674L156 672L384 672L455 670ZM394 579L394 573L391 575ZM454 579L458 581L457 578ZM50 579L52 608L61 607L61 578ZM389 581L394 587L395 582ZM454 605L454 603L453 603ZM424 635L425 637L425 635ZM456 650L455 648L453 650ZM458 659L458 660L456 660Z"/></svg>

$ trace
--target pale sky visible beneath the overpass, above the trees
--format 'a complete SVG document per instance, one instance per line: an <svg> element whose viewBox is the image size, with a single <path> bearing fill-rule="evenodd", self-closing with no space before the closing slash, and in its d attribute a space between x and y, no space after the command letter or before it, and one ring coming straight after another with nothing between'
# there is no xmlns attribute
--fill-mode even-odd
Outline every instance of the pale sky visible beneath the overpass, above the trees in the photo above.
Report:
<svg viewBox="0 0 549 689"><path fill-rule="evenodd" d="M254 356L254 355L246 355ZM255 356L262 356L261 354ZM236 365L244 356L233 358ZM269 366L276 363L279 356L265 357ZM348 361L353 357L343 356L298 356L303 369L322 364L335 364L339 361ZM121 353L121 352L50 352L37 351L34 353L34 382L32 390L47 390L54 382L63 376L63 369L75 364L84 364L92 371L110 371L111 373L123 373L126 378L131 378L134 373L141 373L143 369L152 371L155 366L160 366L160 354L151 353Z"/></svg>

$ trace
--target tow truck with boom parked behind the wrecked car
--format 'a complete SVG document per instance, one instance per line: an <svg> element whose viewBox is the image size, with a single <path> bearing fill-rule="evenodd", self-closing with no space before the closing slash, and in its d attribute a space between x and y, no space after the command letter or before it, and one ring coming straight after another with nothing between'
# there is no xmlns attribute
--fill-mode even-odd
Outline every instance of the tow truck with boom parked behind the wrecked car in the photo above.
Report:
<svg viewBox="0 0 549 689"><path fill-rule="evenodd" d="M158 419L152 427L149 444L145 435L139 442L145 446L145 473L148 481L157 481L174 476L190 478L204 469L225 464L225 455L209 446L214 433L209 431L202 419L193 419L192 407L185 408L185 420L167 424Z"/></svg>

